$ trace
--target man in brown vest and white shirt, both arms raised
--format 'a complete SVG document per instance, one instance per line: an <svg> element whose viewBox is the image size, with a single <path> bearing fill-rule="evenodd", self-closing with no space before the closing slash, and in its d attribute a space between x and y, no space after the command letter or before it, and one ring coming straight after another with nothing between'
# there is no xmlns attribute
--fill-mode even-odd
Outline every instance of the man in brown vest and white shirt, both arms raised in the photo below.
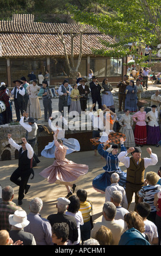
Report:
<svg viewBox="0 0 161 256"><path fill-rule="evenodd" d="M140 147L129 148L118 155L119 161L125 164L127 168L126 196L128 207L132 202L133 193L135 193L135 209L139 200L137 192L144 186L145 169L148 166L156 165L158 162L158 157L152 153L151 148L147 148L146 151L150 154L150 158L141 158ZM132 154L132 157L127 156L129 153Z"/></svg>

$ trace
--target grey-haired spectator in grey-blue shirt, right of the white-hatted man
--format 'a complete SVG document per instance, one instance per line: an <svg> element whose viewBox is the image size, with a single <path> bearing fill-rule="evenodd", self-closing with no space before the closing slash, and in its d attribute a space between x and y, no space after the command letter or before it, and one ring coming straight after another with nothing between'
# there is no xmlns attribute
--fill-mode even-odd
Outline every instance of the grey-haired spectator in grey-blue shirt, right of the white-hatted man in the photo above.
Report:
<svg viewBox="0 0 161 256"><path fill-rule="evenodd" d="M42 200L39 197L30 201L30 213L27 215L29 224L24 228L24 231L34 235L36 245L53 245L51 224L40 215L42 205Z"/></svg>

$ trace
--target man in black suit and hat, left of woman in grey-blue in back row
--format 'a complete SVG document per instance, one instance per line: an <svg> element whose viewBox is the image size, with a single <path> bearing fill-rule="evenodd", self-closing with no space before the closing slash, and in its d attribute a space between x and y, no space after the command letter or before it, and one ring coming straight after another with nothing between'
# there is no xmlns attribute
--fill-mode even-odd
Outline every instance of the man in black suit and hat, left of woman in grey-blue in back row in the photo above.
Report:
<svg viewBox="0 0 161 256"><path fill-rule="evenodd" d="M97 81L96 76L92 76L92 82L90 82L90 89L91 89L91 97L92 97L92 103L95 103L94 111L96 111L96 102L98 103L98 109L102 108L101 103L101 85Z"/></svg>

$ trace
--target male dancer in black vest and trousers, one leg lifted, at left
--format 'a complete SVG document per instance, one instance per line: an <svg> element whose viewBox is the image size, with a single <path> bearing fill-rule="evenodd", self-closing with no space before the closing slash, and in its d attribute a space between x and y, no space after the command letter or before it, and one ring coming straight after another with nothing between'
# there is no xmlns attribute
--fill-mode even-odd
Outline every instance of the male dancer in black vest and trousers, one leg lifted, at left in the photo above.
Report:
<svg viewBox="0 0 161 256"><path fill-rule="evenodd" d="M18 205L22 204L24 194L29 190L30 185L27 184L30 174L34 173L32 169L32 159L34 150L32 146L27 143L26 138L22 138L22 145L18 145L8 134L9 144L19 151L18 168L10 176L10 181L19 186L18 191Z"/></svg>

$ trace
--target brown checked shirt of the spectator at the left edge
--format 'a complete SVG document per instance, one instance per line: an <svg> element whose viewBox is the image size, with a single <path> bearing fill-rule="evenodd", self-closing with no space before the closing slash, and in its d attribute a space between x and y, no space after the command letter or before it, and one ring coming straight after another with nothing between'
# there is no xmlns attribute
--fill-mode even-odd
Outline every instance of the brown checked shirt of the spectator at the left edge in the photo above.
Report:
<svg viewBox="0 0 161 256"><path fill-rule="evenodd" d="M14 202L2 202L0 204L0 230L6 229L9 231L11 225L9 224L8 217L10 214L14 214L16 210L22 209L20 206L17 206Z"/></svg>

